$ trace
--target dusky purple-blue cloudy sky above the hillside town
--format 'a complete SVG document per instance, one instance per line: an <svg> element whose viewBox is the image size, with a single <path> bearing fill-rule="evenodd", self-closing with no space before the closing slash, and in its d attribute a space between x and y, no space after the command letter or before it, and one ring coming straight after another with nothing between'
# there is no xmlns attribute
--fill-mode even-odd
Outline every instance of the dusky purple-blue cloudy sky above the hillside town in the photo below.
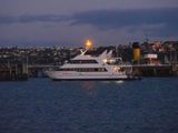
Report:
<svg viewBox="0 0 178 133"><path fill-rule="evenodd" d="M178 0L0 0L0 47L178 40Z"/></svg>

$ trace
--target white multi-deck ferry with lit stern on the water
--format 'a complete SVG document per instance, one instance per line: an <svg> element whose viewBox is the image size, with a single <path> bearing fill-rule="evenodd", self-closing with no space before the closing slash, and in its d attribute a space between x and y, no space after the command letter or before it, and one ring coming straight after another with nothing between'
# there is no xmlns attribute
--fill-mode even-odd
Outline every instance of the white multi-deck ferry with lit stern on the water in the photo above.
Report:
<svg viewBox="0 0 178 133"><path fill-rule="evenodd" d="M47 71L47 75L55 81L73 80L134 80L130 70L126 71L122 64L116 63L118 58L112 58L112 50L105 50L99 55L87 54L87 50L69 61L58 70Z"/></svg>

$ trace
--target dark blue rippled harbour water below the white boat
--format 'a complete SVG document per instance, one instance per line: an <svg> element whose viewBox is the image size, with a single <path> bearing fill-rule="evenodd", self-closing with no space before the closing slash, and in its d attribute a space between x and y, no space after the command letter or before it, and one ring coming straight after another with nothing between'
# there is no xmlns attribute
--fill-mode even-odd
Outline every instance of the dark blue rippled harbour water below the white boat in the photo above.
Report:
<svg viewBox="0 0 178 133"><path fill-rule="evenodd" d="M178 78L0 82L0 133L178 133Z"/></svg>

